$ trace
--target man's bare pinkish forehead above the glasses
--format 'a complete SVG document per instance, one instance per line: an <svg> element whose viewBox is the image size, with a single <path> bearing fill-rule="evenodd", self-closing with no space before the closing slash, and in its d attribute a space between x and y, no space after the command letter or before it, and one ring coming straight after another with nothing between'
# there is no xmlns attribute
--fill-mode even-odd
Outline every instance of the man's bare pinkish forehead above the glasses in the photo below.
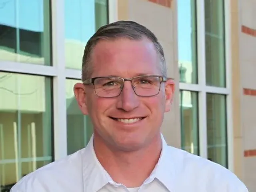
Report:
<svg viewBox="0 0 256 192"><path fill-rule="evenodd" d="M92 64L93 76L161 74L159 56L148 39L101 40L92 52Z"/></svg>

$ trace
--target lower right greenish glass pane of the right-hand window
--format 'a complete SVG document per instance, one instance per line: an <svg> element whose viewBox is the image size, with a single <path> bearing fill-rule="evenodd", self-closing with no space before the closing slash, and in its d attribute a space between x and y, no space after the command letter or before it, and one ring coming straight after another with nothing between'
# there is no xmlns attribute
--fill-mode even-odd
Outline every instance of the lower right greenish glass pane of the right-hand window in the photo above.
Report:
<svg viewBox="0 0 256 192"><path fill-rule="evenodd" d="M228 167L226 96L207 94L208 159Z"/></svg>

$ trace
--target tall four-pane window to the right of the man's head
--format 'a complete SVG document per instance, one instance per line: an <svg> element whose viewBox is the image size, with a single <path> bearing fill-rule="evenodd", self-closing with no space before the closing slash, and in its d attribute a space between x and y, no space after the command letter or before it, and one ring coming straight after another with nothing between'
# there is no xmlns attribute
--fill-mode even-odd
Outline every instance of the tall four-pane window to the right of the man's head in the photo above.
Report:
<svg viewBox="0 0 256 192"><path fill-rule="evenodd" d="M180 66L182 148L228 168L228 150L232 150L232 146L228 146L227 138L230 131L229 119L226 118L230 85L226 83L224 0L196 2L178 1L179 64L185 63L184 54L192 54L187 59L190 68ZM193 11L189 12L188 7ZM184 32L186 26L190 30ZM194 26L196 30L191 30ZM192 48L185 48L184 39ZM200 49L193 51L196 47ZM197 66L197 81L193 80L195 75L190 70L195 68L193 66ZM197 151L195 146L198 146Z"/></svg>

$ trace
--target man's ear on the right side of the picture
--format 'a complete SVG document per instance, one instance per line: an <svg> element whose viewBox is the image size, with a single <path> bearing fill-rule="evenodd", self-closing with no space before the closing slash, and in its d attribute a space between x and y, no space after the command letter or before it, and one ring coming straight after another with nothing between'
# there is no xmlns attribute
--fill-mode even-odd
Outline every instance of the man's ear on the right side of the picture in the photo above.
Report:
<svg viewBox="0 0 256 192"><path fill-rule="evenodd" d="M170 111L173 96L174 96L174 90L175 90L174 80L169 78L165 82L165 112Z"/></svg>

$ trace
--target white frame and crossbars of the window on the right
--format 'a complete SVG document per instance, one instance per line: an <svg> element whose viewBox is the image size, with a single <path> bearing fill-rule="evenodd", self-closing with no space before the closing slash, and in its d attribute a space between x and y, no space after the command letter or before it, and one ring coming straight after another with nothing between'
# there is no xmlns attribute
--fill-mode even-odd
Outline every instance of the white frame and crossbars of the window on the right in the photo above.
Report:
<svg viewBox="0 0 256 192"><path fill-rule="evenodd" d="M226 87L206 85L206 56L205 56L205 18L204 0L196 0L196 22L197 22L197 69L198 84L179 83L180 90L198 92L198 124L199 124L199 148L200 156L208 158L207 152L207 116L206 116L206 94L222 94L226 96L226 117L227 117L227 145L228 145L228 169L234 170L234 149L233 149L233 126L232 126L232 77L231 77L231 18L230 0L224 0L224 30L225 30L225 79Z"/></svg>

